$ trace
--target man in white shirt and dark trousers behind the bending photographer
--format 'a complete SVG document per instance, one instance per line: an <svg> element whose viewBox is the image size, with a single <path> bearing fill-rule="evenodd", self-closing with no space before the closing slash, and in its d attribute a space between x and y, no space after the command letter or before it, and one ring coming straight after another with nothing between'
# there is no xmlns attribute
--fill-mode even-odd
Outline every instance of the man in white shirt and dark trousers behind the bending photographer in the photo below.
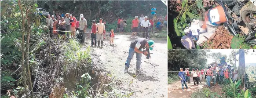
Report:
<svg viewBox="0 0 256 98"><path fill-rule="evenodd" d="M145 33L146 33L146 39L148 39L148 27L150 27L150 22L149 20L147 20L148 17L146 16L145 19L140 23L140 26L142 28L142 34L143 34L143 38L145 38Z"/></svg>

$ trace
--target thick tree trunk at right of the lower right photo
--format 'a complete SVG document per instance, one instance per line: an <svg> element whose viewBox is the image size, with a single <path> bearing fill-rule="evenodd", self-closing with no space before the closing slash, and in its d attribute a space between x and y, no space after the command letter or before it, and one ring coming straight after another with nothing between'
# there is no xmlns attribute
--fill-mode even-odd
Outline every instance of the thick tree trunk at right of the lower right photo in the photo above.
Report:
<svg viewBox="0 0 256 98"><path fill-rule="evenodd" d="M242 81L239 88L245 91L245 51L243 49L239 49L238 80L239 79Z"/></svg>

